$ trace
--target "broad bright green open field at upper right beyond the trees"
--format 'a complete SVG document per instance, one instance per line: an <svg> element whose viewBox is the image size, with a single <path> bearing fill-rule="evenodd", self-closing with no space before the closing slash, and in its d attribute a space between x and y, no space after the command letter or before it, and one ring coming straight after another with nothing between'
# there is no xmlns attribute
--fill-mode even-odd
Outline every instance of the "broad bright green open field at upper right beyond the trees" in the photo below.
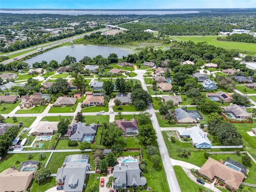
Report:
<svg viewBox="0 0 256 192"><path fill-rule="evenodd" d="M182 41L191 40L195 43L206 41L209 45L214 45L216 47L222 47L225 49L238 50L241 53L256 56L256 46L254 43L217 41L217 37L218 36L175 36L172 38L174 40Z"/></svg>

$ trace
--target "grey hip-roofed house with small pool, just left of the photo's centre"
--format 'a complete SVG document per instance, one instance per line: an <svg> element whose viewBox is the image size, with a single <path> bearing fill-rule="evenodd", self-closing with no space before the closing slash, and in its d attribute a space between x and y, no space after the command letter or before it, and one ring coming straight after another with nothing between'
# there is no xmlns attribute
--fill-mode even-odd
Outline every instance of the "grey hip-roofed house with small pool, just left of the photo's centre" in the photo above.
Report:
<svg viewBox="0 0 256 192"><path fill-rule="evenodd" d="M94 137L97 131L97 124L92 123L86 125L86 123L78 122L72 126L72 132L70 134L71 141L87 141L88 143L94 142Z"/></svg>

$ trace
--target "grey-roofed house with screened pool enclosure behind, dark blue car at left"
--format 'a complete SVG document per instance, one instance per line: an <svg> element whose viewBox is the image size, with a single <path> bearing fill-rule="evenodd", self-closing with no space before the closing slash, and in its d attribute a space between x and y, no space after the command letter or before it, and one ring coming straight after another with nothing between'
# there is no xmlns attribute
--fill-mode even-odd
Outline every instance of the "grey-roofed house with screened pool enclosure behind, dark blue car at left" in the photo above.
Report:
<svg viewBox="0 0 256 192"><path fill-rule="evenodd" d="M89 156L75 154L66 156L61 168L58 168L57 185L63 185L64 192L82 192L86 172L90 171Z"/></svg>

